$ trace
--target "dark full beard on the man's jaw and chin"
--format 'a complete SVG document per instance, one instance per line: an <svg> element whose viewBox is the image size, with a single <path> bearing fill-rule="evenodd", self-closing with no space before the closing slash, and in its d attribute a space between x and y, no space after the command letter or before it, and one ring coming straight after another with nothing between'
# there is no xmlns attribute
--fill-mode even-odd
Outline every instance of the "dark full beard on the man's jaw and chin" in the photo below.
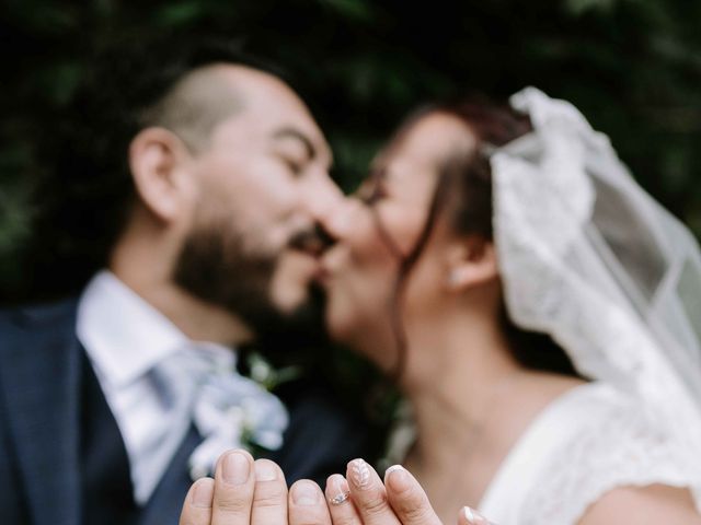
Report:
<svg viewBox="0 0 701 525"><path fill-rule="evenodd" d="M268 357L278 352L291 357L295 349L325 341L321 289L310 284L307 300L283 312L271 298L283 249L277 254L246 249L243 235L230 224L226 218L189 232L175 265L175 283L241 318L255 334L255 346Z"/></svg>

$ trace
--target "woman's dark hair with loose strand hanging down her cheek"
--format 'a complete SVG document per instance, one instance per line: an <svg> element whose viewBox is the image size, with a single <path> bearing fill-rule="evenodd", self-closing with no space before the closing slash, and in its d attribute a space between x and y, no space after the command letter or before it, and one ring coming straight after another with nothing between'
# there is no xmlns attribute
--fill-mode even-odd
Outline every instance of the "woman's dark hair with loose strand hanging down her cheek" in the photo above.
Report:
<svg viewBox="0 0 701 525"><path fill-rule="evenodd" d="M532 129L527 116L516 113L506 104L496 104L483 96L471 96L421 109L400 128L398 137L422 117L435 113L460 119L466 125L466 133L471 132L475 136L476 147L470 151L457 150L438 167L438 180L424 229L410 254L401 258L391 312L398 347L393 374L395 378L403 373L406 358L406 336L401 319L403 291L438 215L446 212L451 228L459 234L476 234L485 241L493 242L492 168L485 150L489 147L507 144ZM377 215L376 223L380 233L389 237ZM520 364L535 370L578 375L567 354L549 335L516 326L504 301L499 310L499 323L509 349Z"/></svg>

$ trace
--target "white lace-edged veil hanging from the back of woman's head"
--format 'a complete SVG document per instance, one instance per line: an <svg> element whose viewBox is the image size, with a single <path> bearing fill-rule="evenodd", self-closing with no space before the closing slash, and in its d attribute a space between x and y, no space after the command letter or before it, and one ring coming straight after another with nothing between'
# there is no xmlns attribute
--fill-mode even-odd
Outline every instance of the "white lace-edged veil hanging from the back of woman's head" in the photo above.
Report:
<svg viewBox="0 0 701 525"><path fill-rule="evenodd" d="M680 446L700 451L694 237L573 105L533 88L512 105L533 131L491 158L509 315L550 334L583 375L640 396Z"/></svg>

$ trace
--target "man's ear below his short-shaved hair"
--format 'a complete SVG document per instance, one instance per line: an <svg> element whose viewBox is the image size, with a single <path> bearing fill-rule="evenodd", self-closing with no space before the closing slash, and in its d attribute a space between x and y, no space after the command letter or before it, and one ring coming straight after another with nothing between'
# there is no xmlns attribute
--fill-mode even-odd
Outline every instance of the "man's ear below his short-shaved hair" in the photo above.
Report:
<svg viewBox="0 0 701 525"><path fill-rule="evenodd" d="M129 144L129 167L143 206L163 222L177 217L188 197L183 165L189 153L183 141L163 128L146 128Z"/></svg>

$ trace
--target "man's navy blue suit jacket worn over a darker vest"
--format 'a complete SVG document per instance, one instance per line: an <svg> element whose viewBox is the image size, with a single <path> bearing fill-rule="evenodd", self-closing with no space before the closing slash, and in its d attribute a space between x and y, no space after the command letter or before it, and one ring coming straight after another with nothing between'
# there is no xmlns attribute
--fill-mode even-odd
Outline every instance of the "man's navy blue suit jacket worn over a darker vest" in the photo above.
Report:
<svg viewBox="0 0 701 525"><path fill-rule="evenodd" d="M84 350L76 336L76 310L77 301L69 301L0 312L3 525L84 523L79 447ZM272 455L288 482L323 482L367 452L364 423L341 410L327 393L298 389L288 408L285 444ZM170 482L168 476L142 510L141 525L177 523L185 493L182 483Z"/></svg>

